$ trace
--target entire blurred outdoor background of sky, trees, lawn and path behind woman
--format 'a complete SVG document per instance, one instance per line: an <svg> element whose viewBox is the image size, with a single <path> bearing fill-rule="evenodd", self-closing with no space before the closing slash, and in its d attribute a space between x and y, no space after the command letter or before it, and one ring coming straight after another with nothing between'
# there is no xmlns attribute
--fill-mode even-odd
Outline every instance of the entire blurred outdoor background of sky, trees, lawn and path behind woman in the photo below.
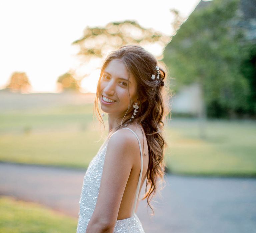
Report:
<svg viewBox="0 0 256 233"><path fill-rule="evenodd" d="M141 201L145 231L256 232L255 0L10 0L0 20L0 232L76 231L108 131L100 68L127 44L169 72L167 184L154 217Z"/></svg>

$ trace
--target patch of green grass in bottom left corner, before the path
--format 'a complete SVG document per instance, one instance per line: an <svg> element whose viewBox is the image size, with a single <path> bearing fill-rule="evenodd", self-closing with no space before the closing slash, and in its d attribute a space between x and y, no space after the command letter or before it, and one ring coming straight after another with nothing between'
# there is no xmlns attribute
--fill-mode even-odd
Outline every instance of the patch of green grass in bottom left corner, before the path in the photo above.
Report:
<svg viewBox="0 0 256 233"><path fill-rule="evenodd" d="M42 205L6 196L0 196L0 219L2 233L70 233L76 231L78 221Z"/></svg>

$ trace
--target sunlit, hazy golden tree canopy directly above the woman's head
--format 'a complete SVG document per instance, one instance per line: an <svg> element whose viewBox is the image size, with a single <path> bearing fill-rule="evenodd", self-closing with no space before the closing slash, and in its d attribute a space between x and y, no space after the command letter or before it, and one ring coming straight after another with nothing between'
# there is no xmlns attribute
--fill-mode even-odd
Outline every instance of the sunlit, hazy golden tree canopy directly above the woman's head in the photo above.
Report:
<svg viewBox="0 0 256 233"><path fill-rule="evenodd" d="M170 37L153 29L145 29L135 21L111 22L105 27L86 27L81 39L74 41L79 46L79 53L85 60L102 58L108 52L117 48L137 44L158 43L163 48L170 41Z"/></svg>

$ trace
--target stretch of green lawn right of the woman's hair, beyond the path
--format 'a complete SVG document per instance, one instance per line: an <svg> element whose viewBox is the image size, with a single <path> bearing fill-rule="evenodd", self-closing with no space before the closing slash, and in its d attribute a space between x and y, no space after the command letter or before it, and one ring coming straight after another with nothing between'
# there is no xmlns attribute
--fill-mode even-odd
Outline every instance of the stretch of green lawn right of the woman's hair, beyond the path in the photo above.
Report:
<svg viewBox="0 0 256 233"><path fill-rule="evenodd" d="M256 122L208 120L206 139L195 120L168 127L168 168L173 173L256 176Z"/></svg>

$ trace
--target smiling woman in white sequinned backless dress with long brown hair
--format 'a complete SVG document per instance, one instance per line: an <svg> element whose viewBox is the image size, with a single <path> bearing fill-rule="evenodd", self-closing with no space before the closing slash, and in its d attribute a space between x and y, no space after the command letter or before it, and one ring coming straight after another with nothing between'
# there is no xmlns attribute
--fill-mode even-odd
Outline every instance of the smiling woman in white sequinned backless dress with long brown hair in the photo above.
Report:
<svg viewBox="0 0 256 233"><path fill-rule="evenodd" d="M147 178L150 206L165 172L164 78L140 46L123 46L103 63L95 106L99 100L108 114L109 134L84 176L77 233L144 232L135 213L141 187Z"/></svg>

